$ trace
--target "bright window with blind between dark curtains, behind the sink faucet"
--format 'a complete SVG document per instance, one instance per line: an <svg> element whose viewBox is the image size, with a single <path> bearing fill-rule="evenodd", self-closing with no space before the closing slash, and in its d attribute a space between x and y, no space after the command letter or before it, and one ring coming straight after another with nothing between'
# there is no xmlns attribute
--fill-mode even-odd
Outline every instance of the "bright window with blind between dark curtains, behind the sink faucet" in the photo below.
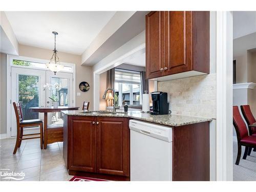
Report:
<svg viewBox="0 0 256 192"><path fill-rule="evenodd" d="M140 72L115 69L116 105L141 104Z"/></svg>

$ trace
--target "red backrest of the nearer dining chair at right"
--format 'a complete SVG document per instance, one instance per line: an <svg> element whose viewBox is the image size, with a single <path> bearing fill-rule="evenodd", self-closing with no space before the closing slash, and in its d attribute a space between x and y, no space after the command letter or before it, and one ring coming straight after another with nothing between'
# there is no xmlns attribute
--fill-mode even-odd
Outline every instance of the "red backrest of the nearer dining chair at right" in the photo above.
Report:
<svg viewBox="0 0 256 192"><path fill-rule="evenodd" d="M233 125L237 132L238 141L248 136L247 127L239 112L238 106L233 106Z"/></svg>

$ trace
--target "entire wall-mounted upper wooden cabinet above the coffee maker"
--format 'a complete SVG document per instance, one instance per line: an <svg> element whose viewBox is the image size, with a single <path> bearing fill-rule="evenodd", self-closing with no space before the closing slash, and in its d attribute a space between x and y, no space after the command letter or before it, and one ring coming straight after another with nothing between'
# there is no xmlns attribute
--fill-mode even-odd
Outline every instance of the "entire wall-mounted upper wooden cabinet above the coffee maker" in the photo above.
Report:
<svg viewBox="0 0 256 192"><path fill-rule="evenodd" d="M170 80L209 73L209 12L146 15L146 78Z"/></svg>

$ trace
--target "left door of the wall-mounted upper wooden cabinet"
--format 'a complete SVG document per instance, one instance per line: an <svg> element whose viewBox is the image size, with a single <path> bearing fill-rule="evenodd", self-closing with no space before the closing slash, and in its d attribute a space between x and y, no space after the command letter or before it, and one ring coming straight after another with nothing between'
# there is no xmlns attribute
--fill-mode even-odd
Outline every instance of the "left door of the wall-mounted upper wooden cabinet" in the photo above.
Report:
<svg viewBox="0 0 256 192"><path fill-rule="evenodd" d="M164 11L146 15L146 78L164 75Z"/></svg>

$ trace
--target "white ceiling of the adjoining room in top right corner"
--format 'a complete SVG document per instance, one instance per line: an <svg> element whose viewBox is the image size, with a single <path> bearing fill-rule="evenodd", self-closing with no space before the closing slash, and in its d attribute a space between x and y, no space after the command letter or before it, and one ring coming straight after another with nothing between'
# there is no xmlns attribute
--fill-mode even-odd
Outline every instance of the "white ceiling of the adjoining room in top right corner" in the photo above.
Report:
<svg viewBox="0 0 256 192"><path fill-rule="evenodd" d="M233 11L233 38L256 32L256 11Z"/></svg>

